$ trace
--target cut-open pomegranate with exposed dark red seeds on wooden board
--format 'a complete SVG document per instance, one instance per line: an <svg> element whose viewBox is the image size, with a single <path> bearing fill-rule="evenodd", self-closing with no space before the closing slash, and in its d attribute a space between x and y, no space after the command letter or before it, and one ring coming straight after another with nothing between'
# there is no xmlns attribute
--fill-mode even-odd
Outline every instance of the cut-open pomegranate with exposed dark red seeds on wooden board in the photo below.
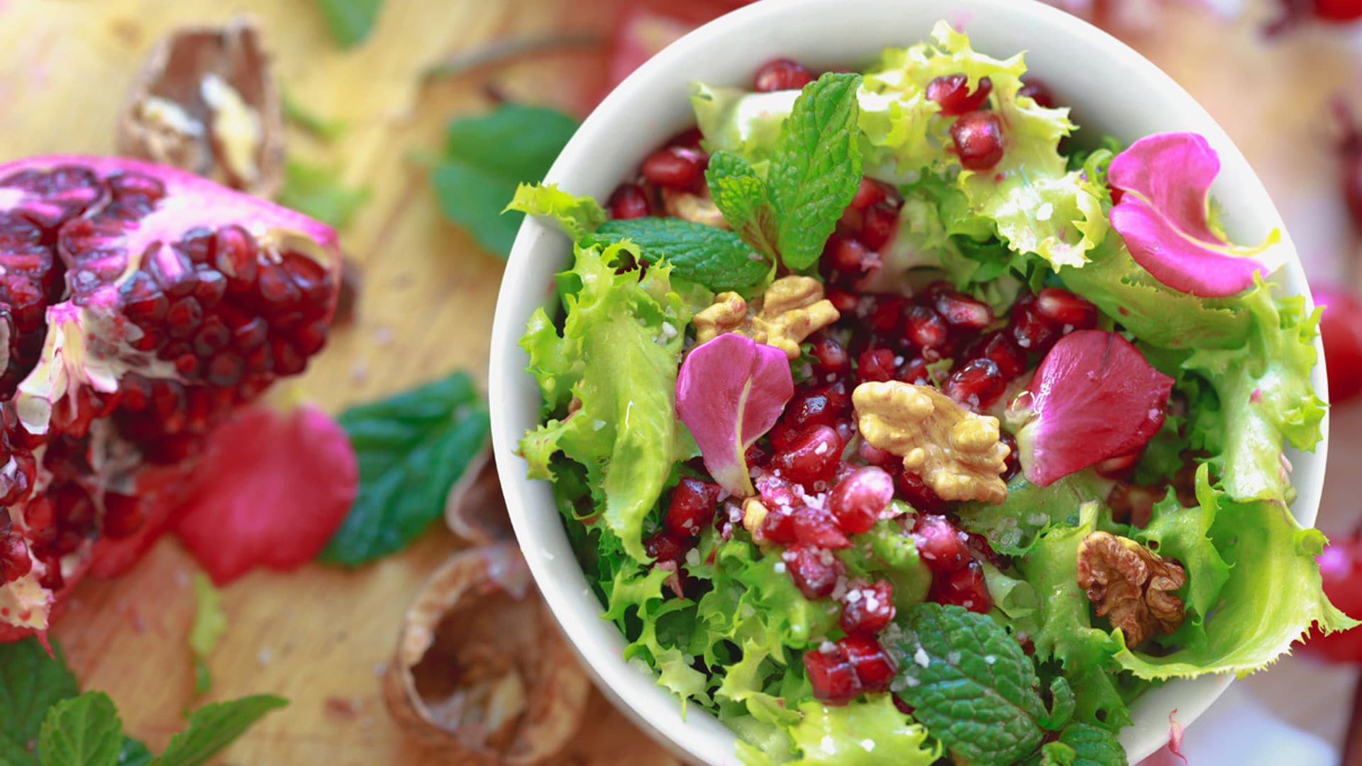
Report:
<svg viewBox="0 0 1362 766"><path fill-rule="evenodd" d="M328 226L183 170L0 165L0 641L165 527L208 431L326 343L339 266Z"/></svg>

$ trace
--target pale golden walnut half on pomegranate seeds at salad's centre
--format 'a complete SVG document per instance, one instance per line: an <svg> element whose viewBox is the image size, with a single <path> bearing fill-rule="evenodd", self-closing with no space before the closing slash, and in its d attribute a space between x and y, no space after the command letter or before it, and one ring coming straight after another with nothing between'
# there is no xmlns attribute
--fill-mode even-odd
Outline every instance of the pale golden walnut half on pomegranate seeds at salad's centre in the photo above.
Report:
<svg viewBox="0 0 1362 766"><path fill-rule="evenodd" d="M891 380L862 383L851 393L861 436L903 458L943 500L1001 503L1008 485L1008 446L998 418L966 410L930 386Z"/></svg>

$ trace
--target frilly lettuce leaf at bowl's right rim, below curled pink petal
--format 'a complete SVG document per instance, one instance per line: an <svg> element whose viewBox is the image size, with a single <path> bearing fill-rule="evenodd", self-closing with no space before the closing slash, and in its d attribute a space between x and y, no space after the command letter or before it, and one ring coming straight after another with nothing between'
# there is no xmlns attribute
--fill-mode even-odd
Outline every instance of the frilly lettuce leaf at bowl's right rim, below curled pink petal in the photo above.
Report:
<svg viewBox="0 0 1362 766"><path fill-rule="evenodd" d="M1310 451L1320 440L1325 403L1314 394L1310 369L1320 309L1305 297L1273 298L1261 279L1244 297L1252 328L1239 348L1201 348L1182 368L1209 382L1219 409L1193 412L1193 446L1212 455L1214 473L1234 500L1291 499L1282 450Z"/></svg>

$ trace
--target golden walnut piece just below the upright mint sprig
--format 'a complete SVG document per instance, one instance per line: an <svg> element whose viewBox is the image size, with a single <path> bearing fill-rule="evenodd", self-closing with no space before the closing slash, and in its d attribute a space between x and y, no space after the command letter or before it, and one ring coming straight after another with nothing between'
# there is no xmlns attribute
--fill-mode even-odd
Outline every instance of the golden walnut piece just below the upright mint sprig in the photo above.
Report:
<svg viewBox="0 0 1362 766"><path fill-rule="evenodd" d="M738 293L715 296L714 305L695 315L695 339L707 343L725 333L737 333L775 346L789 358L799 358L799 343L839 316L832 301L823 297L817 279L791 274L771 282L765 294L750 305Z"/></svg>

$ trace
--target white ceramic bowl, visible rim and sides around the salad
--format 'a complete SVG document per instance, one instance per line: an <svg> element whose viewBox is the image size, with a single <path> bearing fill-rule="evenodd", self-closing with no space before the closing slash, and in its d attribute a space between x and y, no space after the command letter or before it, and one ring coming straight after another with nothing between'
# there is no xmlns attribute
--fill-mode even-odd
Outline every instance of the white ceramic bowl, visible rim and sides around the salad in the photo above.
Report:
<svg viewBox="0 0 1362 766"><path fill-rule="evenodd" d="M748 5L688 34L621 83L587 117L546 180L572 194L605 199L650 150L692 124L689 82L748 83L761 63L776 56L814 70L865 64L885 46L926 40L937 19L963 27L977 49L994 56L1024 50L1028 70L1075 106L1075 120L1086 128L1126 140L1162 131L1204 135L1220 154L1223 169L1214 192L1223 203L1229 232L1238 241L1261 241L1269 229L1282 228L1244 155L1186 91L1115 38L1031 0L764 0ZM1290 260L1278 281L1305 293L1305 274L1288 237L1282 247ZM597 686L688 761L734 763L727 728L696 707L682 718L674 696L621 660L624 639L614 624L599 619L601 604L572 556L549 485L527 481L526 463L515 454L516 440L535 425L539 408L535 382L524 372L527 357L516 341L530 313L550 300L552 275L568 256L563 234L526 221L501 282L489 398L511 521L539 590ZM1323 361L1314 371L1314 386L1325 394ZM1324 425L1327 436L1328 423ZM1291 457L1299 491L1294 512L1303 523L1313 523L1318 508L1325 446ZM1189 724L1230 680L1181 680L1140 698L1132 710L1135 725L1121 735L1130 761L1167 741L1170 710L1175 707L1178 721Z"/></svg>

